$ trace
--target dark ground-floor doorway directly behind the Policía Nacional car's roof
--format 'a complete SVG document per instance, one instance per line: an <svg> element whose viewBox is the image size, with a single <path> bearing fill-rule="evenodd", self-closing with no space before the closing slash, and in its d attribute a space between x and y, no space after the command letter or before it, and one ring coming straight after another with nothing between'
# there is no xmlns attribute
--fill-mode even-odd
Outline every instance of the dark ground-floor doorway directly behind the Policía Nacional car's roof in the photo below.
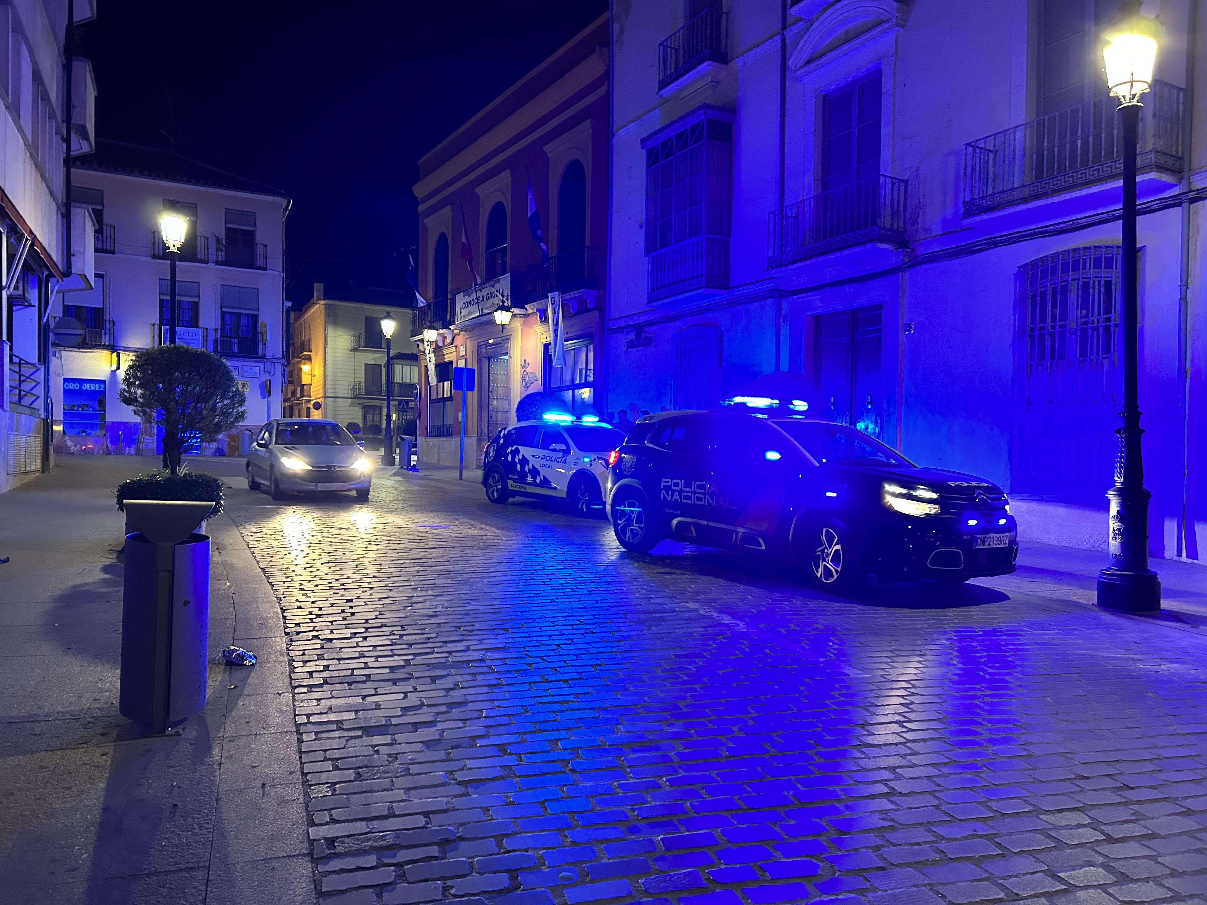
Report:
<svg viewBox="0 0 1207 905"><path fill-rule="evenodd" d="M814 321L814 376L822 395L818 416L873 437L882 436L885 420L881 317L880 305L868 305L817 315Z"/></svg>

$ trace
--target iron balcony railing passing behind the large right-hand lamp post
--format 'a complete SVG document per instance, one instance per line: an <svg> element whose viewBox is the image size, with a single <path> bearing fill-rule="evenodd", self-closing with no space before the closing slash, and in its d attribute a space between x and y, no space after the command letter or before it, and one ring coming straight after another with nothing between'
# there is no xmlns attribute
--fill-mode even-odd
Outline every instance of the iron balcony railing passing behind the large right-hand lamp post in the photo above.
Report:
<svg viewBox="0 0 1207 905"><path fill-rule="evenodd" d="M1182 175L1183 91L1153 82L1143 95L1137 170ZM1115 98L1100 98L964 145L964 214L984 214L1123 173Z"/></svg>

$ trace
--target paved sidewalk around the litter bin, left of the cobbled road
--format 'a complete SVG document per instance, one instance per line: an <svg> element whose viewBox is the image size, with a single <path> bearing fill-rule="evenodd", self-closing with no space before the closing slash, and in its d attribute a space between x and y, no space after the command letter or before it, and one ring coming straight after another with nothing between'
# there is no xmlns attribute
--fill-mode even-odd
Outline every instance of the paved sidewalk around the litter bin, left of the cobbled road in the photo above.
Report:
<svg viewBox="0 0 1207 905"><path fill-rule="evenodd" d="M229 471L235 462L194 467ZM176 737L117 713L123 516L156 459L60 456L0 496L0 901L314 901L280 608L228 516L214 538L209 702Z"/></svg>

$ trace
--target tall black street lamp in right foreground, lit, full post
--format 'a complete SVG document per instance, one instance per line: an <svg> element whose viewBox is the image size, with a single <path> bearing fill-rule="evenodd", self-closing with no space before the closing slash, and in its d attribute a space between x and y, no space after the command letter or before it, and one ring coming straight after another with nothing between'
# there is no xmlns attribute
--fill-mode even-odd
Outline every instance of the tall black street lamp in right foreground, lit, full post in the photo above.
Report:
<svg viewBox="0 0 1207 905"><path fill-rule="evenodd" d="M1107 87L1119 98L1123 125L1123 352L1124 410L1119 434L1115 485L1110 501L1110 565L1098 572L1098 606L1129 613L1159 613L1161 582L1148 567L1148 501L1139 438L1139 341L1137 323L1138 268L1136 261L1136 136L1139 95L1153 82L1156 63L1154 23L1141 17L1124 22L1108 35L1102 52Z"/></svg>

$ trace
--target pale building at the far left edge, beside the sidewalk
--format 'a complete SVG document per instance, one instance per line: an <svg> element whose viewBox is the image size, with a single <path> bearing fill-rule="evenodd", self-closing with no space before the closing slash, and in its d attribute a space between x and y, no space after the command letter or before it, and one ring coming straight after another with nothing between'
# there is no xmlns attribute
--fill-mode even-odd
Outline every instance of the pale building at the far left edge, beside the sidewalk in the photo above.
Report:
<svg viewBox="0 0 1207 905"><path fill-rule="evenodd" d="M93 18L93 0L74 16ZM0 492L53 463L51 309L92 287L92 222L65 200L64 160L93 150L97 89L68 30L66 0L0 2Z"/></svg>

